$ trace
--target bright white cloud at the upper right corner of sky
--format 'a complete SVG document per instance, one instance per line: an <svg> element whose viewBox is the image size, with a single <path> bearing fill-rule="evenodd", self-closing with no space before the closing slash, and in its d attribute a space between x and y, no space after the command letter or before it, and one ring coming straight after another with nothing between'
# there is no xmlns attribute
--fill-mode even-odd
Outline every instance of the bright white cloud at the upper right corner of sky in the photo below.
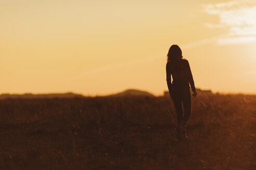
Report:
<svg viewBox="0 0 256 170"><path fill-rule="evenodd" d="M209 15L219 16L219 23L205 23L210 29L227 28L224 38L217 40L219 45L245 44L256 42L256 2L231 1L203 6Z"/></svg>

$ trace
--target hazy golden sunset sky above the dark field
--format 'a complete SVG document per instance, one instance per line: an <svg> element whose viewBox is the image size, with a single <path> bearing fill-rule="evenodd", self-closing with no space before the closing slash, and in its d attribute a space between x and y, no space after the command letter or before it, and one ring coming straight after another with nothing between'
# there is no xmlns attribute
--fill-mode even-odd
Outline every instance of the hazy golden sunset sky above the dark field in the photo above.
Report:
<svg viewBox="0 0 256 170"><path fill-rule="evenodd" d="M256 1L0 1L0 93L167 90L171 45L196 88L256 94Z"/></svg>

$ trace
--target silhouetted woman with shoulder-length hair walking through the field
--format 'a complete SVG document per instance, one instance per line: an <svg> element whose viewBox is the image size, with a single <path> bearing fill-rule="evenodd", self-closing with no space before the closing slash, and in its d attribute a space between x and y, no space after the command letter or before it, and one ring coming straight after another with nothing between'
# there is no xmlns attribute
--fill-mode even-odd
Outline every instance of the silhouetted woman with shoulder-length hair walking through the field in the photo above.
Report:
<svg viewBox="0 0 256 170"><path fill-rule="evenodd" d="M166 73L169 94L177 112L177 138L187 138L185 126L191 115L189 84L194 97L197 96L197 92L188 61L183 59L182 50L177 45L172 45L167 54ZM173 80L171 80L171 76Z"/></svg>

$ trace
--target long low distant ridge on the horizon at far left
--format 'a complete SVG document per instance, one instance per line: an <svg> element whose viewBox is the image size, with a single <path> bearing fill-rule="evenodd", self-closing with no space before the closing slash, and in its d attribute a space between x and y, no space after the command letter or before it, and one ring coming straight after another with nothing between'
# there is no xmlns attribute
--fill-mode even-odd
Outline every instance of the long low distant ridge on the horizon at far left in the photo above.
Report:
<svg viewBox="0 0 256 170"><path fill-rule="evenodd" d="M51 93L51 94L1 94L1 98L72 98L72 97L83 97L81 94L75 93Z"/></svg>

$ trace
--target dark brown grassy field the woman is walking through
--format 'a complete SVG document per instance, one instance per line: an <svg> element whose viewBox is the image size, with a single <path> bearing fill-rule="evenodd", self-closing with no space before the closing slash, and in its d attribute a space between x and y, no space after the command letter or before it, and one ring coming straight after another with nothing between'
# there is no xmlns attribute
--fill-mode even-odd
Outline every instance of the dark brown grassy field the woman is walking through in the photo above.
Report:
<svg viewBox="0 0 256 170"><path fill-rule="evenodd" d="M175 128L170 97L0 100L0 169L256 169L256 96L198 95Z"/></svg>

